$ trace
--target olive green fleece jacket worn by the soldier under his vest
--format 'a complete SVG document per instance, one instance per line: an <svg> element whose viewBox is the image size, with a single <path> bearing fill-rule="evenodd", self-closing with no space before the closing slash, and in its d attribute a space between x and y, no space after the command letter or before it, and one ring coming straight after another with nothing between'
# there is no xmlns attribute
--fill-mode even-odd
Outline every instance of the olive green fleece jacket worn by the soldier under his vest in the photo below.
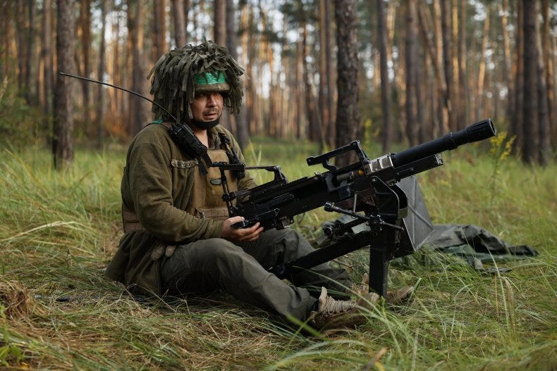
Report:
<svg viewBox="0 0 557 371"><path fill-rule="evenodd" d="M209 147L219 149L217 132L225 132L240 161L240 146L220 125L208 131ZM139 132L126 156L121 194L123 208L137 215L142 228L126 232L106 275L130 291L161 294L159 260L151 253L161 244L180 244L219 237L222 221L196 218L186 213L192 194L197 161L186 156L172 141L164 125L152 123ZM246 173L238 189L255 187Z"/></svg>

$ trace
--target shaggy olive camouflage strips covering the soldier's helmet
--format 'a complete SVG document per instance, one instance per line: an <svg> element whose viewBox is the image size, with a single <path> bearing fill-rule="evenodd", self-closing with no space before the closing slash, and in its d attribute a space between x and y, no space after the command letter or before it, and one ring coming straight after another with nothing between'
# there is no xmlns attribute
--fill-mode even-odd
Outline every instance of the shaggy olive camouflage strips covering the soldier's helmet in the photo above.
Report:
<svg viewBox="0 0 557 371"><path fill-rule="evenodd" d="M240 111L243 89L240 76L243 68L223 46L204 40L197 46L173 49L159 58L147 78L153 76L151 94L154 101L176 116L178 122L191 117L190 103L195 97L195 77L222 71L230 91L224 94L224 106L235 115ZM168 114L153 105L155 119L169 120Z"/></svg>

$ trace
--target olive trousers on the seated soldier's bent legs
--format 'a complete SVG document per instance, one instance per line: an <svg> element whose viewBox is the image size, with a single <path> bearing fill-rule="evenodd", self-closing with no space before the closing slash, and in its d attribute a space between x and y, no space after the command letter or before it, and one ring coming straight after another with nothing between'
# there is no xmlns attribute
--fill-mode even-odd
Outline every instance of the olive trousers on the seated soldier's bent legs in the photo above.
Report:
<svg viewBox="0 0 557 371"><path fill-rule="evenodd" d="M264 267L286 263L311 251L312 246L293 229L270 229L256 241L240 244L202 239L180 245L172 256L162 258L161 284L171 295L222 289L271 313L305 320L321 287L338 293L350 287L348 273L325 263L296 273L285 282Z"/></svg>

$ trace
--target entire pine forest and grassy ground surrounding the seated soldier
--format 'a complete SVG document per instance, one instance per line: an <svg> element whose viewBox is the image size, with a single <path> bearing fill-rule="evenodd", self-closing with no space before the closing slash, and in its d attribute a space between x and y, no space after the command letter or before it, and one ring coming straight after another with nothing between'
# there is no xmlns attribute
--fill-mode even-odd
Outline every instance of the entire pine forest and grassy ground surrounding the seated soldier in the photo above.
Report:
<svg viewBox="0 0 557 371"><path fill-rule="evenodd" d="M159 56L203 37L245 67L223 123L248 165L289 179L355 139L386 153L493 119L420 175L424 200L539 256L478 272L424 246L389 268L408 305L319 337L220 294L132 300L103 272L151 103L59 71L151 98ZM0 370L557 370L556 67L556 0L0 0ZM294 227L317 245L331 218ZM369 251L337 263L360 279Z"/></svg>

